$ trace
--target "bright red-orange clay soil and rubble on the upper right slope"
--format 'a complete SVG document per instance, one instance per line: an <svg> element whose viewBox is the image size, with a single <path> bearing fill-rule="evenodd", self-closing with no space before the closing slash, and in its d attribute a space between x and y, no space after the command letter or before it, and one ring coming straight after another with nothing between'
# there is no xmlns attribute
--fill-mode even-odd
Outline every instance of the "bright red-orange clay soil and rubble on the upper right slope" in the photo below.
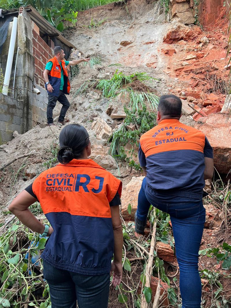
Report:
<svg viewBox="0 0 231 308"><path fill-rule="evenodd" d="M231 67L231 64L226 67L231 51L226 59L225 9L212 26L204 30L199 26L169 30L163 42L161 52L168 61L165 73L172 78L188 80L188 87L173 86L172 92L187 99L205 116L221 111ZM195 113L193 118L197 121L201 115Z"/></svg>

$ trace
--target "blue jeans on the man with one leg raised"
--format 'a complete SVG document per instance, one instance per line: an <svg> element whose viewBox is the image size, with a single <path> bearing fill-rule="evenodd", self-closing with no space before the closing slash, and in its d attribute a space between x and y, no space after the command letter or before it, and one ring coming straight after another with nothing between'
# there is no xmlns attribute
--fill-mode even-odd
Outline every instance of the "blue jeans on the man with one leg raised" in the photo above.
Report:
<svg viewBox="0 0 231 308"><path fill-rule="evenodd" d="M180 269L182 308L201 308L201 278L198 271L198 251L205 223L202 200L164 196L152 191L144 178L139 196L137 218L144 221L150 205L171 217L176 257Z"/></svg>

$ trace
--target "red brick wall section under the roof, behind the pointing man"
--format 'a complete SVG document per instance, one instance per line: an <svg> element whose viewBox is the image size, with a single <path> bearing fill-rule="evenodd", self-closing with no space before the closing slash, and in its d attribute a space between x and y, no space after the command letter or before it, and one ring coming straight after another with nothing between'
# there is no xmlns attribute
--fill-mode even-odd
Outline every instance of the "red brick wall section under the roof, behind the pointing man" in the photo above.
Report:
<svg viewBox="0 0 231 308"><path fill-rule="evenodd" d="M35 83L44 88L43 71L47 60L54 57L53 51L47 43L39 36L39 27L34 24L32 30L33 56L34 56L34 78Z"/></svg>

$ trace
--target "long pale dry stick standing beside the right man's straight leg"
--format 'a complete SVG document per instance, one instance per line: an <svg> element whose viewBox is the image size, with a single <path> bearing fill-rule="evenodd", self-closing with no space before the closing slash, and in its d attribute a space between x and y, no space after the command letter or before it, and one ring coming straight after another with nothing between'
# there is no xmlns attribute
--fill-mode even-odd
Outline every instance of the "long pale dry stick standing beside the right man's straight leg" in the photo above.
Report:
<svg viewBox="0 0 231 308"><path fill-rule="evenodd" d="M155 213L155 217L156 217L156 213ZM147 262L147 265L146 265L145 286L148 287L148 288L150 288L150 282L151 282L152 264L153 264L155 244L156 244L156 219L154 221L149 257L148 257L148 262ZM142 308L148 308L148 303L146 302L144 294L142 294L142 296L141 296L141 307Z"/></svg>

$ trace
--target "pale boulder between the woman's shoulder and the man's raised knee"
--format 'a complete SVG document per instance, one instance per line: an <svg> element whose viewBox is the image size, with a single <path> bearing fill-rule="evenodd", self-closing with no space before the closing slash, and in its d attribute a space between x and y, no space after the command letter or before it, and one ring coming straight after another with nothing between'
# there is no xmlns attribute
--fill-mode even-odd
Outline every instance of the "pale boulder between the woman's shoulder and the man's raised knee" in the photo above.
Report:
<svg viewBox="0 0 231 308"><path fill-rule="evenodd" d="M137 210L138 205L138 194L140 191L140 187L144 176L132 177L132 180L123 188L122 196L121 196L121 204L122 204L122 216L124 220L134 220L134 215ZM132 212L128 213L128 205L131 204Z"/></svg>

